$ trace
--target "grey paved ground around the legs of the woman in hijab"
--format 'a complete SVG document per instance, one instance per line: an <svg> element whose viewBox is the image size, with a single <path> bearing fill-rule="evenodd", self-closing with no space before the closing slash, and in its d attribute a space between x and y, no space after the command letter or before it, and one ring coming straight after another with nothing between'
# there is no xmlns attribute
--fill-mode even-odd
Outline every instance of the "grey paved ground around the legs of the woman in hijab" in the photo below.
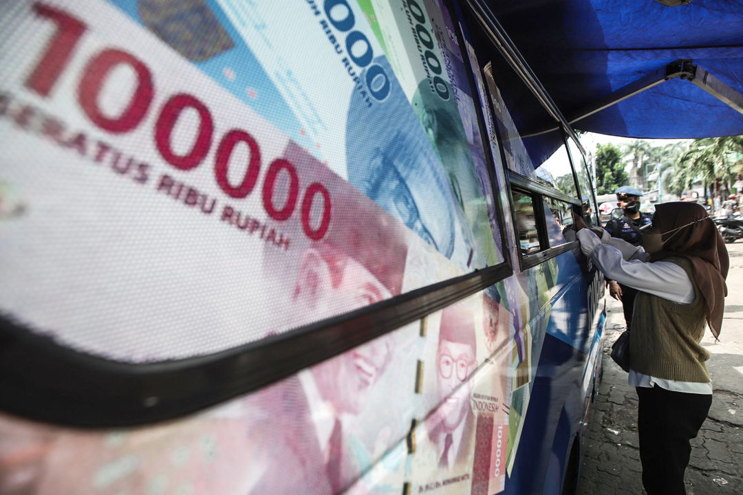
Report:
<svg viewBox="0 0 743 495"><path fill-rule="evenodd" d="M707 421L692 441L687 495L743 494L743 241L727 244L728 297L718 343L707 331L702 344L715 389ZM637 394L609 358L624 330L622 306L608 298L603 379L593 404L591 430L577 495L642 495L637 450Z"/></svg>

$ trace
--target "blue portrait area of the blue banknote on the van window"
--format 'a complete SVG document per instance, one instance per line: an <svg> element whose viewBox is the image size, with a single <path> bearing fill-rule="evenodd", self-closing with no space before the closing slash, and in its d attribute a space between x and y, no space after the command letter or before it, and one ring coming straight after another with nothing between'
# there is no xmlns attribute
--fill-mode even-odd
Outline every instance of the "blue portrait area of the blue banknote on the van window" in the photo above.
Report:
<svg viewBox="0 0 743 495"><path fill-rule="evenodd" d="M392 73L386 57L374 62ZM387 99L372 108L354 93L347 122L348 180L452 258L455 197L400 85L392 84Z"/></svg>

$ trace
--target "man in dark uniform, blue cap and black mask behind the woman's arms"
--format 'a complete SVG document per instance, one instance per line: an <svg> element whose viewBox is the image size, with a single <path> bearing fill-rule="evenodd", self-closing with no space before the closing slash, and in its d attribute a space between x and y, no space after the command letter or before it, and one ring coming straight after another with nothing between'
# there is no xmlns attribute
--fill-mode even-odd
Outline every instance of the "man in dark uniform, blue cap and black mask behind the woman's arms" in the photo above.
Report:
<svg viewBox="0 0 743 495"><path fill-rule="evenodd" d="M623 214L609 220L604 229L611 237L620 237L633 246L641 246L643 237L640 235L640 227L649 224L652 218L652 215L640 212L640 197L643 193L632 186L622 186L614 192L617 194L617 206L623 210ZM622 301L624 321L629 330L632 326L632 306L635 304L637 290L616 281L609 281L609 295Z"/></svg>

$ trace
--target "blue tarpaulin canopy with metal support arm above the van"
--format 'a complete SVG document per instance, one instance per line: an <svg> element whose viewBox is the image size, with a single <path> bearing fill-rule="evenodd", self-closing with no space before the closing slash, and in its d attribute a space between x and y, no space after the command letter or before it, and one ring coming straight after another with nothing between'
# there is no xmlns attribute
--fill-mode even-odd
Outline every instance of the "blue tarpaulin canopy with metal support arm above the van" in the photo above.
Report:
<svg viewBox="0 0 743 495"><path fill-rule="evenodd" d="M742 0L487 5L575 128L638 138L743 134Z"/></svg>

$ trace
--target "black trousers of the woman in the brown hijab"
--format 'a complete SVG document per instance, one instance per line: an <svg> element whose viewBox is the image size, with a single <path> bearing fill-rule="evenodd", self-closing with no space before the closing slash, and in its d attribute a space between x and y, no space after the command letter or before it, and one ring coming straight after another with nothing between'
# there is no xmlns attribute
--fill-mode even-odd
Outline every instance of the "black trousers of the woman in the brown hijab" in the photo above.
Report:
<svg viewBox="0 0 743 495"><path fill-rule="evenodd" d="M685 495L684 471L712 405L711 395L637 387L637 429L643 486L648 495Z"/></svg>

